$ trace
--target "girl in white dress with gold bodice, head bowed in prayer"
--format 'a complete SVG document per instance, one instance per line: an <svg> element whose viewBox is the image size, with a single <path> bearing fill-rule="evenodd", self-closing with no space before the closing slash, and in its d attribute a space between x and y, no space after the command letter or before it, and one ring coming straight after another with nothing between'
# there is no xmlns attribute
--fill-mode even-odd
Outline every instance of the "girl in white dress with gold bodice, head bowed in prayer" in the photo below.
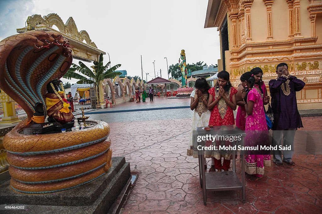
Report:
<svg viewBox="0 0 322 214"><path fill-rule="evenodd" d="M194 111L194 116L192 119L191 132L189 138L189 144L187 148L187 155L198 158L198 150L196 148L196 139L195 128L201 126L208 126L210 111L208 110L208 90L211 88L204 78L199 78L196 80L194 87L196 90L193 90L190 97L190 109ZM206 158L204 158L205 169L207 168Z"/></svg>

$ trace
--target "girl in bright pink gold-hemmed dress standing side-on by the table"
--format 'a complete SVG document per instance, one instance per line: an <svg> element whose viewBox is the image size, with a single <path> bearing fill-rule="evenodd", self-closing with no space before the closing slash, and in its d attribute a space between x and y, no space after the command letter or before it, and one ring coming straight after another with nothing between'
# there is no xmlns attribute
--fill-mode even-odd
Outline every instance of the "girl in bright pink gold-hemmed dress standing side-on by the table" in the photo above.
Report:
<svg viewBox="0 0 322 214"><path fill-rule="evenodd" d="M246 77L247 86L250 89L247 94L242 89L242 98L244 99L244 106L248 115L245 126L245 147L255 148L257 145L259 146L259 150L245 151L245 171L247 174L253 175L251 180L256 181L264 175L264 166L270 166L270 151L260 150L261 145L269 145L268 129L263 107L264 95L261 93L260 86L254 84L254 74L246 72L243 75ZM269 98L265 97L264 101L268 103L269 100L267 99Z"/></svg>

